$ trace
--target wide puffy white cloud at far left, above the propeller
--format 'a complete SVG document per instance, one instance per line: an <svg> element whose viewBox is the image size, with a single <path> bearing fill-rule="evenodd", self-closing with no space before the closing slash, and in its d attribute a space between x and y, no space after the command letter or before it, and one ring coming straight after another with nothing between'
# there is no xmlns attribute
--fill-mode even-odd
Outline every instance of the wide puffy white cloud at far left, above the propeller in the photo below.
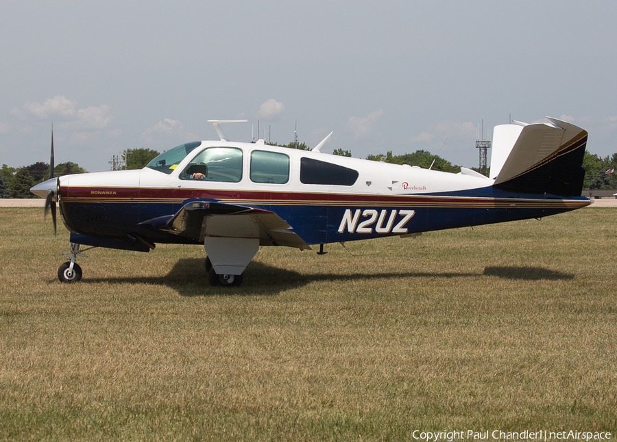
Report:
<svg viewBox="0 0 617 442"><path fill-rule="evenodd" d="M77 107L77 101L56 95L41 103L27 101L21 108L10 112L20 120L53 120L60 127L72 131L97 131L106 129L112 121L108 105Z"/></svg>

